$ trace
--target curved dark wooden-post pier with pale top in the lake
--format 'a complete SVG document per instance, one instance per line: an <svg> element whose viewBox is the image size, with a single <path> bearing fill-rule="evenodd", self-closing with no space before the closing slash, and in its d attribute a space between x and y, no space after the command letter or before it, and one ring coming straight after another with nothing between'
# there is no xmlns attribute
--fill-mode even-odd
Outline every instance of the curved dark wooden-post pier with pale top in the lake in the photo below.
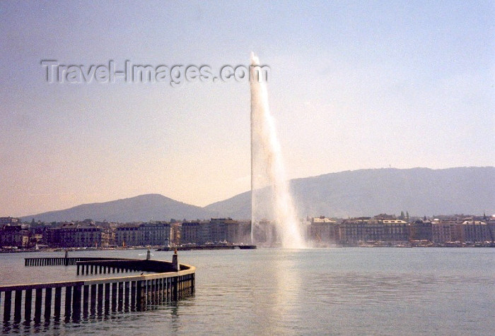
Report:
<svg viewBox="0 0 495 336"><path fill-rule="evenodd" d="M26 266L76 265L91 280L0 286L4 323L79 322L98 316L167 304L194 294L194 266L161 260L115 258L26 258ZM113 273L141 275L113 277ZM144 274L146 272L146 274ZM1 309L3 308L3 309ZM1 316L0 316L1 318Z"/></svg>

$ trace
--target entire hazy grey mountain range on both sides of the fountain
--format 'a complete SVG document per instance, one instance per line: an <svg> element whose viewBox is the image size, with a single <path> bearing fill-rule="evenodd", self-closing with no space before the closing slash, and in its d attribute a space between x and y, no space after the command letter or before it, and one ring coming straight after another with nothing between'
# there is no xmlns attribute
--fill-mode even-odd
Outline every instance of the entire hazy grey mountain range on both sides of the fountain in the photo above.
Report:
<svg viewBox="0 0 495 336"><path fill-rule="evenodd" d="M495 213L495 167L449 169L359 169L291 180L300 216L371 216ZM64 220L134 222L149 220L249 219L251 193L200 208L158 194L78 205L25 216L44 222Z"/></svg>

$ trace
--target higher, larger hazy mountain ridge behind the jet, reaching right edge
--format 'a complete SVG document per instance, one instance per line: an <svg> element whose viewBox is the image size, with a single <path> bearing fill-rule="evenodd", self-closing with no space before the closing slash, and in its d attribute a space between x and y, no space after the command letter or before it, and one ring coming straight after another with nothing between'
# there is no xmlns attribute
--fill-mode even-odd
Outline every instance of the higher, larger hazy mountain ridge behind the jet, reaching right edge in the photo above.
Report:
<svg viewBox="0 0 495 336"><path fill-rule="evenodd" d="M495 213L495 193L490 188L494 185L495 167L356 169L290 181L300 217L359 217L401 210L421 216ZM249 218L250 191L204 208Z"/></svg>

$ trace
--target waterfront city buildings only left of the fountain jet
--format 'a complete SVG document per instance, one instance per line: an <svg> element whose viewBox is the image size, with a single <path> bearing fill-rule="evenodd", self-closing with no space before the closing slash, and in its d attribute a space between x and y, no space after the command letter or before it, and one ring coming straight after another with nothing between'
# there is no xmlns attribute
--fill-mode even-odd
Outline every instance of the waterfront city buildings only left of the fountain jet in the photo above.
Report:
<svg viewBox="0 0 495 336"><path fill-rule="evenodd" d="M242 244L250 237L250 222L231 218L209 221L109 223L84 220L52 224L23 224L3 217L0 246L51 248L111 246L171 246L180 244Z"/></svg>

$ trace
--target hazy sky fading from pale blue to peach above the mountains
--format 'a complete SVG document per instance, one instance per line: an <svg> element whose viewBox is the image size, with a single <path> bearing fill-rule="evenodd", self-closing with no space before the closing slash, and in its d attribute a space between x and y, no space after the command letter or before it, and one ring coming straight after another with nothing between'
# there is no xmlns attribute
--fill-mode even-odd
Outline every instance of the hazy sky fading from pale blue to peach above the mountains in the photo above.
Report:
<svg viewBox="0 0 495 336"><path fill-rule="evenodd" d="M50 84L43 59L257 52L290 178L494 165L494 22L493 1L1 1L0 216L250 188L248 82Z"/></svg>

